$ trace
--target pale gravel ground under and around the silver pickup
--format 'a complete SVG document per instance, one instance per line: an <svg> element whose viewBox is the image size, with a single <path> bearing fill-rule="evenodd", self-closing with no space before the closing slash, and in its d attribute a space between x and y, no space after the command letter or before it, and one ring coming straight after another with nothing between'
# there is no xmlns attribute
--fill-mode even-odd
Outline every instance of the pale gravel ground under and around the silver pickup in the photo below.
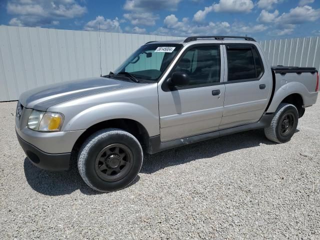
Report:
<svg viewBox="0 0 320 240"><path fill-rule="evenodd" d="M132 185L34 167L0 103L0 238L320 239L320 101L291 141L247 131L147 156Z"/></svg>

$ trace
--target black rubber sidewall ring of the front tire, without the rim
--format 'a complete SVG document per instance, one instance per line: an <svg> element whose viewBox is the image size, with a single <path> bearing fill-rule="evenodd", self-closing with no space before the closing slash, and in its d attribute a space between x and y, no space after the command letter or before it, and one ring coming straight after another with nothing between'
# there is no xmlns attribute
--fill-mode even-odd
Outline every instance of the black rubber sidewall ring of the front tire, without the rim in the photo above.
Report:
<svg viewBox="0 0 320 240"><path fill-rule="evenodd" d="M132 165L129 172L121 179L105 181L95 171L95 159L104 147L113 143L123 144L131 150L133 156L131 159ZM100 191L114 191L125 187L134 180L140 171L143 155L141 146L133 136L126 134L124 131L109 131L105 137L99 137L94 144L90 145L84 157L83 166L90 185Z"/></svg>

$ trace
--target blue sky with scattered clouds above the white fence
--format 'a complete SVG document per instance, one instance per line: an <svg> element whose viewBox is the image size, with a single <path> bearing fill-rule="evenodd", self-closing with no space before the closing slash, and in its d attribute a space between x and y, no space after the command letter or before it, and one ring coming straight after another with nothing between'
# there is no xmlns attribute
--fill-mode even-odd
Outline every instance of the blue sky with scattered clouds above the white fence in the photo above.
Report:
<svg viewBox="0 0 320 240"><path fill-rule="evenodd" d="M0 0L0 24L157 35L320 35L320 0Z"/></svg>

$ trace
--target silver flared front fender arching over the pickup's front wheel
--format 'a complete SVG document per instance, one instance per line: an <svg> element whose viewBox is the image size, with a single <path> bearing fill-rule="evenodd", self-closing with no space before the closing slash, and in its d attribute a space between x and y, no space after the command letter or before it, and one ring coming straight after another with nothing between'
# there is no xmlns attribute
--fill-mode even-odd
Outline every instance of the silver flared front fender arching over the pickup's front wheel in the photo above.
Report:
<svg viewBox="0 0 320 240"><path fill-rule="evenodd" d="M159 134L159 119L147 108L129 102L109 102L89 107L64 122L64 131L87 129L110 119L127 118L141 123L149 136Z"/></svg>

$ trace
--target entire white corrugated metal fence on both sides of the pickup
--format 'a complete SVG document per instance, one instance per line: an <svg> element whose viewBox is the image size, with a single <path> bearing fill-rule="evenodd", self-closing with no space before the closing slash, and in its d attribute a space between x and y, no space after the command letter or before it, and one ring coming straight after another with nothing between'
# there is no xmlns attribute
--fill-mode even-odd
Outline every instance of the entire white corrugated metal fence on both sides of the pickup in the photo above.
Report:
<svg viewBox="0 0 320 240"><path fill-rule="evenodd" d="M147 41L178 38L101 32L102 74ZM319 37L260 43L272 65L320 68ZM36 86L99 75L99 32L0 25L0 101Z"/></svg>

